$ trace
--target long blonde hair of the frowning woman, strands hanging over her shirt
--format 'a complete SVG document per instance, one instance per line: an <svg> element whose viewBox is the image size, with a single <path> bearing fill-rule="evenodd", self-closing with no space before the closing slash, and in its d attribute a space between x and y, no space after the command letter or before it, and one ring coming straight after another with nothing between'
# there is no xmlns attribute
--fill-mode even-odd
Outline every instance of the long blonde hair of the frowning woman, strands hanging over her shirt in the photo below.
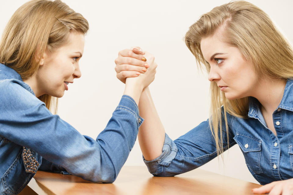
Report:
<svg viewBox="0 0 293 195"><path fill-rule="evenodd" d="M232 47L237 47L243 57L252 62L257 76L265 75L284 80L293 77L293 53L290 44L265 12L245 1L233 1L215 7L190 26L185 43L200 67L204 65L207 71L210 71L209 64L205 62L201 52L201 39L213 35L219 27L223 27L224 41ZM236 117L247 118L249 97L226 99L215 82L211 82L210 91L209 124L219 155L224 151L222 132L226 131L225 141L229 147L226 112ZM222 118L225 121L225 130L222 129Z"/></svg>

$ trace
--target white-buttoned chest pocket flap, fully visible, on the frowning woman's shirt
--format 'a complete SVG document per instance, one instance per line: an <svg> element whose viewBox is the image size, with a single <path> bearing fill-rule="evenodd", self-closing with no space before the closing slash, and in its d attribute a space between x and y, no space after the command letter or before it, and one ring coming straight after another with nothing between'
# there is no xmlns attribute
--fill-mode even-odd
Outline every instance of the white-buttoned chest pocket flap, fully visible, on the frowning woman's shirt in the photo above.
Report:
<svg viewBox="0 0 293 195"><path fill-rule="evenodd" d="M233 139L244 152L261 151L262 141L255 137L237 132Z"/></svg>

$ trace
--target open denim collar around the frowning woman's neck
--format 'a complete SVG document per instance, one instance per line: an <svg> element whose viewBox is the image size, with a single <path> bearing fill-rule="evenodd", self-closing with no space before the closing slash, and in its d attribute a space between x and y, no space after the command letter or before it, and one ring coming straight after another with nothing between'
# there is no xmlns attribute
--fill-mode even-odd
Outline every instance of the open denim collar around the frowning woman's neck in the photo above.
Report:
<svg viewBox="0 0 293 195"><path fill-rule="evenodd" d="M286 86L284 89L284 94L281 100L281 103L276 108L282 108L285 110L293 111L293 80L288 79L286 82ZM259 110L259 101L254 97L249 97L249 111L248 111L248 117L254 117L255 114L257 114L257 111Z"/></svg>

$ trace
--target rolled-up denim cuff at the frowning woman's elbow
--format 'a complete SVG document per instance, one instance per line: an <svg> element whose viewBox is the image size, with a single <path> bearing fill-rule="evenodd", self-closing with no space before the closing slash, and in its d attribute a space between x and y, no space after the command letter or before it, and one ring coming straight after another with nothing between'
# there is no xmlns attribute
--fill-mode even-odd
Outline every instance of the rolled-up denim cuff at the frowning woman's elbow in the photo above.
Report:
<svg viewBox="0 0 293 195"><path fill-rule="evenodd" d="M162 149L162 154L154 160L146 161L143 157L143 162L147 165L147 169L153 175L163 172L163 166L169 166L175 158L178 148L174 141L165 134L165 142Z"/></svg>

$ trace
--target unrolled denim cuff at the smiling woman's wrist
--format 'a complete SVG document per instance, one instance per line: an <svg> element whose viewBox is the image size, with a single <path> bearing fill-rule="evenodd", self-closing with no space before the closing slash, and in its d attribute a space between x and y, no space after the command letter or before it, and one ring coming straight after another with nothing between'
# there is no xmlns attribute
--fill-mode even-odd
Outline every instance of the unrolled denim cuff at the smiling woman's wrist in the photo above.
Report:
<svg viewBox="0 0 293 195"><path fill-rule="evenodd" d="M144 119L139 116L138 106L132 97L123 95L116 110L119 110L119 109L126 110L132 113L133 116L136 118L138 127L140 127L140 125L143 123Z"/></svg>

